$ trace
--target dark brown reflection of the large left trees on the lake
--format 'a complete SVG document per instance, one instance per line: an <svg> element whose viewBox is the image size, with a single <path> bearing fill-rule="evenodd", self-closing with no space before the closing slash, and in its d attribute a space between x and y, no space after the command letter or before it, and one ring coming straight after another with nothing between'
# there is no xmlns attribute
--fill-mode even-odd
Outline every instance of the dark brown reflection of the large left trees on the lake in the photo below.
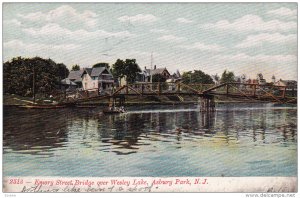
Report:
<svg viewBox="0 0 300 198"><path fill-rule="evenodd" d="M61 143L66 141L68 116L65 110L23 110L5 107L3 115L4 147L38 153L61 147Z"/></svg>

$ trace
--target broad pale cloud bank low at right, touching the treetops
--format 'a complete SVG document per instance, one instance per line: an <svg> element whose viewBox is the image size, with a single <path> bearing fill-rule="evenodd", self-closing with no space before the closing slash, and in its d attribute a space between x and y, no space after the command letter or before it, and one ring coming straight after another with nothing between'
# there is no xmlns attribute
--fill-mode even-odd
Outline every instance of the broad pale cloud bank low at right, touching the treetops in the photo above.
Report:
<svg viewBox="0 0 300 198"><path fill-rule="evenodd" d="M234 71L236 75L246 74L247 77L252 78L255 78L257 73L262 73L269 80L272 75L286 80L297 79L297 55L219 54L204 61L208 69L213 68L212 72L222 73L227 69Z"/></svg>

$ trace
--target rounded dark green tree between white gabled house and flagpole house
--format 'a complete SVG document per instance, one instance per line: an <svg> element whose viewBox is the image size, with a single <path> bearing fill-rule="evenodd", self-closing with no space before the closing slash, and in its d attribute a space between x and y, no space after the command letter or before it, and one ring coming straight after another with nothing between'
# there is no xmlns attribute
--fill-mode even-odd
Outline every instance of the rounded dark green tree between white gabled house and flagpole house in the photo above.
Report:
<svg viewBox="0 0 300 198"><path fill-rule="evenodd" d="M125 61L118 59L113 64L112 73L115 77L122 78L126 76L128 83L133 83L136 79L137 72L140 72L135 59L126 59Z"/></svg>

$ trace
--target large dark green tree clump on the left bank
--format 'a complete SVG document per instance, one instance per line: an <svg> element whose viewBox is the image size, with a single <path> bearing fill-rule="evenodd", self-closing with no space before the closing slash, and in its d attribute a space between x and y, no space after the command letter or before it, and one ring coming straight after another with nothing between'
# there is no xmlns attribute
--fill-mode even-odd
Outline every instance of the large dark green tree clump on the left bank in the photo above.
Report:
<svg viewBox="0 0 300 198"><path fill-rule="evenodd" d="M33 75L35 92L50 94L69 75L69 70L64 64L56 64L51 59L13 58L3 63L4 93L32 96Z"/></svg>

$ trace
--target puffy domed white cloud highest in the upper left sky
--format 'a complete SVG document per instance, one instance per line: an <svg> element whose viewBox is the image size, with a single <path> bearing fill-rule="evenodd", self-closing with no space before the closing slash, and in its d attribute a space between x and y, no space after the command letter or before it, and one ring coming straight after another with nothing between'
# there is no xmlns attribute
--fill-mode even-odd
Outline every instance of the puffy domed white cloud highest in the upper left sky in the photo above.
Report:
<svg viewBox="0 0 300 198"><path fill-rule="evenodd" d="M63 5L56 9L50 10L47 13L34 12L28 14L18 14L22 19L32 21L32 22L49 22L49 23L60 23L65 24L70 23L82 23L87 27L94 27L97 24L97 14L85 10L82 13L77 12L76 9L69 5Z"/></svg>

